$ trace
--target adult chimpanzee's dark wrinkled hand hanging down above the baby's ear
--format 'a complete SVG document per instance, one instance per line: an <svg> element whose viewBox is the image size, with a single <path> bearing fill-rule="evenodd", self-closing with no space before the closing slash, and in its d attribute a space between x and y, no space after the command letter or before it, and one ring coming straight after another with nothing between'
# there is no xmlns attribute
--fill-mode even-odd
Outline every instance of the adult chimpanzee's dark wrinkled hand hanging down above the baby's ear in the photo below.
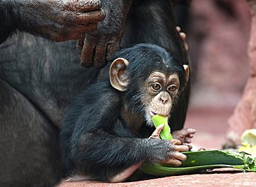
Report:
<svg viewBox="0 0 256 187"><path fill-rule="evenodd" d="M106 18L98 23L97 30L86 33L77 42L81 63L85 67L102 68L107 63L106 57L120 48L131 0L111 1L102 1Z"/></svg>

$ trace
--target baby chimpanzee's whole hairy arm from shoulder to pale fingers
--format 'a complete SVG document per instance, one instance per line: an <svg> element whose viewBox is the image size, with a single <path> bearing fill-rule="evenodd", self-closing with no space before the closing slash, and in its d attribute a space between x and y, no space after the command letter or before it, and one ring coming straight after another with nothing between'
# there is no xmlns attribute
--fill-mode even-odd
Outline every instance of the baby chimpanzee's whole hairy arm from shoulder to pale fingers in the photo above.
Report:
<svg viewBox="0 0 256 187"><path fill-rule="evenodd" d="M116 181L118 174L139 167L143 161L177 164L177 159L185 159L179 151L188 150L188 146L170 140L139 138L131 132L120 118L122 99L117 92L107 89L98 84L87 89L66 116L61 141L67 167L72 163L71 170L79 175ZM129 171L125 175L130 174Z"/></svg>

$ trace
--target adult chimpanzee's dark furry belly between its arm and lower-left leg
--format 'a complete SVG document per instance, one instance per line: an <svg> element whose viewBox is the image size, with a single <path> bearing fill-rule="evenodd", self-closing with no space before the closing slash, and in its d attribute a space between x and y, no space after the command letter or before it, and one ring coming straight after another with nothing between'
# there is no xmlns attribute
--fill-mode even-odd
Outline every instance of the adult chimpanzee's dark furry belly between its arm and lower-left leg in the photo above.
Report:
<svg viewBox="0 0 256 187"><path fill-rule="evenodd" d="M75 41L53 43L19 32L0 46L0 78L58 126L77 93L97 79L99 70L79 61Z"/></svg>

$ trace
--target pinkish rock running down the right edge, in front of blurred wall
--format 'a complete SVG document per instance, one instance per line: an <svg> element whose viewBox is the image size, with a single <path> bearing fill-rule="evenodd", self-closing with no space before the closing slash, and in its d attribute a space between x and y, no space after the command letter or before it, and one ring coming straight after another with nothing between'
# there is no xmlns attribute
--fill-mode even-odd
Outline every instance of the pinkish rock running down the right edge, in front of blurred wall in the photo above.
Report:
<svg viewBox="0 0 256 187"><path fill-rule="evenodd" d="M239 144L241 133L256 128L256 1L248 1L252 14L248 55L250 77L244 88L244 95L230 117L228 124L228 144Z"/></svg>

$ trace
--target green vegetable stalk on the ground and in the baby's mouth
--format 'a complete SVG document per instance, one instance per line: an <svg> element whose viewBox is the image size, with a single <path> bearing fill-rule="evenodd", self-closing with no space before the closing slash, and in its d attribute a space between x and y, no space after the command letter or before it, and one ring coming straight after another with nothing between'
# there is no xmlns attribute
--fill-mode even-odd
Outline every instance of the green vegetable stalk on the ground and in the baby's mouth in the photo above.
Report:
<svg viewBox="0 0 256 187"><path fill-rule="evenodd" d="M165 124L160 133L162 139L172 139L167 117L155 115L152 117L152 121L155 127ZM256 171L256 158L253 159L251 155L245 152L203 150L183 153L188 156L188 159L183 161L179 167L172 164L145 162L141 168L144 173L156 176L185 175L213 168L238 168L245 171Z"/></svg>

